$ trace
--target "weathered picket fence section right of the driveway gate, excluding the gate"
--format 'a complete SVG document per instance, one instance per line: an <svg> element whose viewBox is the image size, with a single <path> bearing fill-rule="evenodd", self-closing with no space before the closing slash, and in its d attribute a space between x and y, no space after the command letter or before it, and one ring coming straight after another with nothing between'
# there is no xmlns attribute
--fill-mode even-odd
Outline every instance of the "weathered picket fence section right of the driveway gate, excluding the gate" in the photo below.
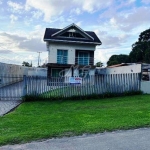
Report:
<svg viewBox="0 0 150 150"><path fill-rule="evenodd" d="M82 84L69 83L69 77L26 77L25 95L45 98L123 93L140 90L140 74L94 75L82 78Z"/></svg>

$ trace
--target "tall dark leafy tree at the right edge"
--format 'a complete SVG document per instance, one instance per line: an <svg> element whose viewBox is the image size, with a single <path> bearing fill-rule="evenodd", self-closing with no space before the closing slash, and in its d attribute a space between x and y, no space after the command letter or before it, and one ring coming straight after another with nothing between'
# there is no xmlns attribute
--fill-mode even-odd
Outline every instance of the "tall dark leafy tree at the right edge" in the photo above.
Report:
<svg viewBox="0 0 150 150"><path fill-rule="evenodd" d="M150 29L140 33L138 41L132 45L129 59L133 63L150 63Z"/></svg>

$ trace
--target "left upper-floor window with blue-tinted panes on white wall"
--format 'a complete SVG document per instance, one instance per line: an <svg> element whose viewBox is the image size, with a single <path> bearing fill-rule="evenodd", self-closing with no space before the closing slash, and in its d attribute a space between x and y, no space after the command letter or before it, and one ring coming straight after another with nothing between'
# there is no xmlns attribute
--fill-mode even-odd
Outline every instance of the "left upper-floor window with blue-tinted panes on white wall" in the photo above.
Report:
<svg viewBox="0 0 150 150"><path fill-rule="evenodd" d="M68 50L57 50L57 63L67 64L68 62Z"/></svg>

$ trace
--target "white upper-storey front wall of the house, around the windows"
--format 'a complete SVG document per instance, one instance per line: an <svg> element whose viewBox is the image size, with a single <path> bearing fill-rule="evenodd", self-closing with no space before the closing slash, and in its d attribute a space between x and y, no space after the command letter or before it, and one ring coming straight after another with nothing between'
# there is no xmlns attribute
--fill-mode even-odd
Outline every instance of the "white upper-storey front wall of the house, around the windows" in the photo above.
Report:
<svg viewBox="0 0 150 150"><path fill-rule="evenodd" d="M57 63L57 49L68 50L68 64L75 64L75 50L94 51L95 45L51 43L48 45L48 63Z"/></svg>

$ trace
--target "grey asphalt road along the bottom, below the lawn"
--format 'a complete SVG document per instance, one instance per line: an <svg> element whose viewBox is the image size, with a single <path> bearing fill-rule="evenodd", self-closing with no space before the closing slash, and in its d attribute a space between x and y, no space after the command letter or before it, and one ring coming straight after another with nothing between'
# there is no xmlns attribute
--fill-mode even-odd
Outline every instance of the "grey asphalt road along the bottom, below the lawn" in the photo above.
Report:
<svg viewBox="0 0 150 150"><path fill-rule="evenodd" d="M0 150L150 150L150 128L64 137L0 147Z"/></svg>

